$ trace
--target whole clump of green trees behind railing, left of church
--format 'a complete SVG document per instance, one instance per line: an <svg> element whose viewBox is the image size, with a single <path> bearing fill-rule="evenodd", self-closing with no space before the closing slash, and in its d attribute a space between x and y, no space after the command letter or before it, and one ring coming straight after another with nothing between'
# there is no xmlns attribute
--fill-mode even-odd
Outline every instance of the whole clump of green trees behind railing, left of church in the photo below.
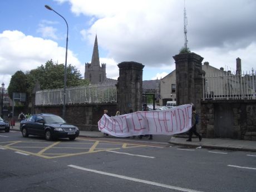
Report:
<svg viewBox="0 0 256 192"><path fill-rule="evenodd" d="M13 92L26 93L26 102L23 104L24 111L29 111L29 104L32 99L32 92L38 82L41 90L54 89L64 87L64 71L63 64L53 63L52 60L47 61L45 65L41 65L34 70L17 71L11 78L8 87L9 97L12 99ZM72 65L67 66L67 87L88 85L88 80L81 77L80 71Z"/></svg>

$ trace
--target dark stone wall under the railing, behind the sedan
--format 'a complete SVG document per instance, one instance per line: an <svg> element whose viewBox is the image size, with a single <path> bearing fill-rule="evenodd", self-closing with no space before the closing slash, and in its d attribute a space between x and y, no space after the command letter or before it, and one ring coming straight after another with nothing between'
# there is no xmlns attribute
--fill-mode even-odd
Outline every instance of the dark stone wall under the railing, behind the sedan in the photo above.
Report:
<svg viewBox="0 0 256 192"><path fill-rule="evenodd" d="M103 115L103 110L109 111L109 116L115 116L117 110L116 103L110 104L82 104L66 106L66 121L76 125L83 131L97 131L97 122ZM35 113L49 113L62 115L62 106L35 106Z"/></svg>

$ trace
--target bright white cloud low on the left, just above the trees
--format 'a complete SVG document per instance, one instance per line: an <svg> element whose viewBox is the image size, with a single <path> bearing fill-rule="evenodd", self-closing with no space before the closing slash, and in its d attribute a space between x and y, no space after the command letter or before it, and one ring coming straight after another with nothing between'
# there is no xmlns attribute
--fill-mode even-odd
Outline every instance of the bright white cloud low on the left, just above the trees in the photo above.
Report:
<svg viewBox="0 0 256 192"><path fill-rule="evenodd" d="M65 53L66 48L59 47L52 40L26 36L20 31L3 31L0 33L0 80L8 87L11 76L16 71L35 69L51 59L65 63ZM68 50L67 54L67 64L71 63L83 73L84 66L73 52Z"/></svg>

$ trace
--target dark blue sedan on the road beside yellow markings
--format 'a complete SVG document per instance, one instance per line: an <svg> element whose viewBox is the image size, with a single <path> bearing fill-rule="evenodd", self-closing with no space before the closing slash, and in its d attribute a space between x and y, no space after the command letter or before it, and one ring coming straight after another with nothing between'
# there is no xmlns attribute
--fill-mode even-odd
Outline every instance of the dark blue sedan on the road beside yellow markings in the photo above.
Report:
<svg viewBox="0 0 256 192"><path fill-rule="evenodd" d="M23 137L28 135L45 136L46 140L69 138L75 140L79 135L76 126L66 124L60 116L53 114L35 114L21 121L19 130Z"/></svg>

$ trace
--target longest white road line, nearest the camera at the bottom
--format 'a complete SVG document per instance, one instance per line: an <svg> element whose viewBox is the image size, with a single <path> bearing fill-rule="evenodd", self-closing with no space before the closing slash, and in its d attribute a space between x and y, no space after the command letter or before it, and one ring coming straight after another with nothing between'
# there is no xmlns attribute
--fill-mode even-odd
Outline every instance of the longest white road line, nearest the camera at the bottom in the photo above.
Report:
<svg viewBox="0 0 256 192"><path fill-rule="evenodd" d="M107 172L103 172L103 171L82 168L81 166L76 166L76 165L68 165L68 166L70 166L71 168L80 169L83 171L90 171L92 173L97 173L97 174L101 174L101 175L114 176L115 178L126 179L126 180L135 181L135 182L139 182L139 183L160 186L162 188L174 189L174 190L185 191L185 192L202 192L202 191L197 191L197 190L193 190L193 189L181 188L179 186L166 185L166 184L156 183L156 182L142 180L142 179L130 178L129 176L117 175L117 174L107 173Z"/></svg>

